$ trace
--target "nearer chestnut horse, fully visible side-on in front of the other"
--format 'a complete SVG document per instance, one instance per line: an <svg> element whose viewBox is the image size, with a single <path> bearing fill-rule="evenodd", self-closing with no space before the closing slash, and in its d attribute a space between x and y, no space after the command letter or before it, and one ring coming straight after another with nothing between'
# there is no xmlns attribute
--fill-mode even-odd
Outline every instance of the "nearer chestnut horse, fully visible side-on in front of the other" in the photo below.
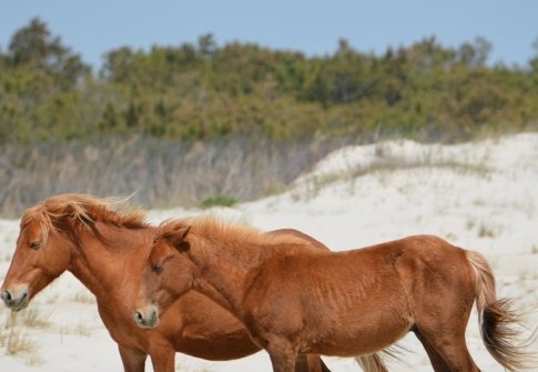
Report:
<svg viewBox="0 0 538 372"><path fill-rule="evenodd" d="M146 259L134 319L156 326L195 290L243 322L276 372L293 371L297 354L365 355L408 332L435 371L479 371L465 340L476 301L489 353L509 371L532 368L479 253L432 235L344 252L304 244L215 219L168 221Z"/></svg>

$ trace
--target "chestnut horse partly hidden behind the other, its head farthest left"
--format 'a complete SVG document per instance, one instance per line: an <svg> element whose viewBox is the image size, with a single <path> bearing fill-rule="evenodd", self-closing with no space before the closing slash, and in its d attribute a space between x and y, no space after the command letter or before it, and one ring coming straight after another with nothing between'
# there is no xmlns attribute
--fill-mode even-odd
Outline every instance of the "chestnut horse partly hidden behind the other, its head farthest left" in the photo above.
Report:
<svg viewBox="0 0 538 372"><path fill-rule="evenodd" d="M226 310L197 292L170 304L161 326L142 330L132 321L133 298L142 265L159 232L139 211L125 212L119 201L83 194L62 194L28 209L21 219L11 265L1 298L13 311L65 270L94 295L99 314L118 343L124 371L142 372L150 355L155 372L174 371L175 352L224 361L260 350L244 326ZM267 235L308 242L308 250L326 250L315 239L292 229ZM358 360L368 371L386 371L378 355ZM301 355L296 371L328 371L318 355Z"/></svg>

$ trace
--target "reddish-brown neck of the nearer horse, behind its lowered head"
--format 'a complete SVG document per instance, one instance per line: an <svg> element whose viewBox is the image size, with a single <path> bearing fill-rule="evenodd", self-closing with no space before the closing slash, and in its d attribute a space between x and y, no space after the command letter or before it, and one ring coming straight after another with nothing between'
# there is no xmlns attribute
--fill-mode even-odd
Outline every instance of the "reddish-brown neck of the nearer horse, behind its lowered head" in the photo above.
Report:
<svg viewBox="0 0 538 372"><path fill-rule="evenodd" d="M194 290L238 314L247 283L264 258L263 250L200 240L199 244L192 245L189 254L197 270Z"/></svg>

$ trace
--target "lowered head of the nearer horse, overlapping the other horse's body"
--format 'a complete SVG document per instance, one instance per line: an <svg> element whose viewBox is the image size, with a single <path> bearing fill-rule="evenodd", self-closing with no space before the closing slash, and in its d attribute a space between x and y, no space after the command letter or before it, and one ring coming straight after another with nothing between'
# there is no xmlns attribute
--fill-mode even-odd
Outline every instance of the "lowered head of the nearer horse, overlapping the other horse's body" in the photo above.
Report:
<svg viewBox="0 0 538 372"><path fill-rule="evenodd" d="M190 250L190 227L166 223L153 241L144 264L134 321L141 328L155 328L163 313L194 281L193 264L184 255Z"/></svg>

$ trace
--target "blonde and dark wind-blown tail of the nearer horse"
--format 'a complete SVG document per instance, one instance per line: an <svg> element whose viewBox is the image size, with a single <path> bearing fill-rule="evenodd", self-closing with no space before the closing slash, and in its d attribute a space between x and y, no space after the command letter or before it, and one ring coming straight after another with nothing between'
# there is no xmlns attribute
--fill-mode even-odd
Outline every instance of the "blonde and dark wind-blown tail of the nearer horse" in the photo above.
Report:
<svg viewBox="0 0 538 372"><path fill-rule="evenodd" d="M521 331L515 325L520 324L520 315L511 309L511 300L497 300L491 267L478 252L465 251L465 254L475 270L478 322L486 349L508 371L535 369L536 362L526 351L527 342L517 341Z"/></svg>

